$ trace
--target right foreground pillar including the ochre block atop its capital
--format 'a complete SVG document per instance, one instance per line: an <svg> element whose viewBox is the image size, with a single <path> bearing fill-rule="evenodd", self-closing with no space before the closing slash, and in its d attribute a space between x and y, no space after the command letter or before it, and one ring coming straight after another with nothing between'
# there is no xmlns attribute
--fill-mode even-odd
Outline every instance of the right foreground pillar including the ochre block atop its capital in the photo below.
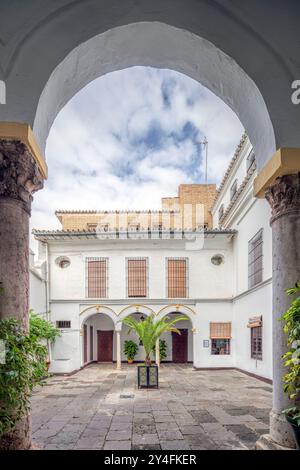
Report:
<svg viewBox="0 0 300 470"><path fill-rule="evenodd" d="M300 149L281 149L258 175L254 189L269 202L272 210L273 263L273 407L270 435L262 436L258 448L295 448L290 425L282 411L292 406L283 392L286 335L280 322L291 299L286 289L300 280Z"/></svg>

